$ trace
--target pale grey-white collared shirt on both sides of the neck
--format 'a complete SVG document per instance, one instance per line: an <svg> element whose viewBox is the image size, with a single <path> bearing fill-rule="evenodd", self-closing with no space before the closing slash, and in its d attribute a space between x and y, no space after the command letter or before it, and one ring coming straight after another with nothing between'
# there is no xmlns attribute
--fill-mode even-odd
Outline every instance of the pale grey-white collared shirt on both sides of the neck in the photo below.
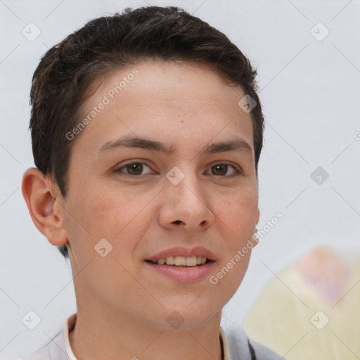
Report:
<svg viewBox="0 0 360 360"><path fill-rule="evenodd" d="M64 323L63 330L60 330L53 340L35 354L32 354L32 356L23 360L77 360L69 341L69 333L75 327L76 318L77 313L70 315ZM223 360L283 359L270 349L250 340L240 326L233 326L226 333L220 326L219 336L224 352Z"/></svg>

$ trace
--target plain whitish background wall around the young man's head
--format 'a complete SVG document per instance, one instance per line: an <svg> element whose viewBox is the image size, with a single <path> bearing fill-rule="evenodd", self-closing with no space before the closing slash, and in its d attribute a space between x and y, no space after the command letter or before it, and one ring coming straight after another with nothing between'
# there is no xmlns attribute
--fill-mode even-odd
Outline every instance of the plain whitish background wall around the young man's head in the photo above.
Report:
<svg viewBox="0 0 360 360"><path fill-rule="evenodd" d="M0 359L44 345L76 311L70 264L32 224L20 190L23 172L33 166L27 131L32 74L49 47L86 21L146 4L195 12L259 73L266 131L258 228L276 212L284 217L253 251L224 314L241 323L273 273L316 245L360 250L359 0L1 0ZM22 33L30 22L41 30L34 41ZM329 174L321 185L311 179L317 167ZM30 310L41 318L34 330L22 322Z"/></svg>

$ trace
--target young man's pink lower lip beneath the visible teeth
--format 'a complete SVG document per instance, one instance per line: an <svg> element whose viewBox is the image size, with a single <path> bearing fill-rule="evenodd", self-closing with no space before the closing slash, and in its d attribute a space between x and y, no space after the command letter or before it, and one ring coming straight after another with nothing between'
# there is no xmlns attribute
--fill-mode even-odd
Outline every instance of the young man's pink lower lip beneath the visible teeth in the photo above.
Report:
<svg viewBox="0 0 360 360"><path fill-rule="evenodd" d="M169 265L157 265L152 262L146 262L148 266L151 266L155 271L160 274L173 278L181 283L192 283L199 281L206 276L210 275L214 262L207 262L201 266L189 266L189 267L175 267Z"/></svg>

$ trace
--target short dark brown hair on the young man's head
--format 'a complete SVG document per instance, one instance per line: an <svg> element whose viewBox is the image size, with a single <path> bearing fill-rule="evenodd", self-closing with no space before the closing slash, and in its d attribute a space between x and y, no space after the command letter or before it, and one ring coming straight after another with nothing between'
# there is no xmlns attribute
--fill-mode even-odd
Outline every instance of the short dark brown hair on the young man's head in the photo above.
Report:
<svg viewBox="0 0 360 360"><path fill-rule="evenodd" d="M211 65L229 85L241 86L256 101L251 116L257 173L264 116L256 93L257 72L248 58L223 33L182 8L126 8L89 21L53 46L32 77L34 162L43 174L53 176L64 197L73 143L65 134L79 123L87 89L99 76L147 59ZM59 250L68 257L65 245Z"/></svg>

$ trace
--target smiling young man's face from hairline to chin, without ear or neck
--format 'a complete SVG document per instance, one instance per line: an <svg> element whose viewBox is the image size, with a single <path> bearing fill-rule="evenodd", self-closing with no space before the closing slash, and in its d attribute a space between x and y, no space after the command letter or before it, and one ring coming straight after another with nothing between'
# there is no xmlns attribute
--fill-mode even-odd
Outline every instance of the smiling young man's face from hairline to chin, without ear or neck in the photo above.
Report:
<svg viewBox="0 0 360 360"><path fill-rule="evenodd" d="M220 313L250 251L217 274L259 220L244 95L205 65L148 62L94 84L62 200L78 307L158 328L174 311L189 328Z"/></svg>

